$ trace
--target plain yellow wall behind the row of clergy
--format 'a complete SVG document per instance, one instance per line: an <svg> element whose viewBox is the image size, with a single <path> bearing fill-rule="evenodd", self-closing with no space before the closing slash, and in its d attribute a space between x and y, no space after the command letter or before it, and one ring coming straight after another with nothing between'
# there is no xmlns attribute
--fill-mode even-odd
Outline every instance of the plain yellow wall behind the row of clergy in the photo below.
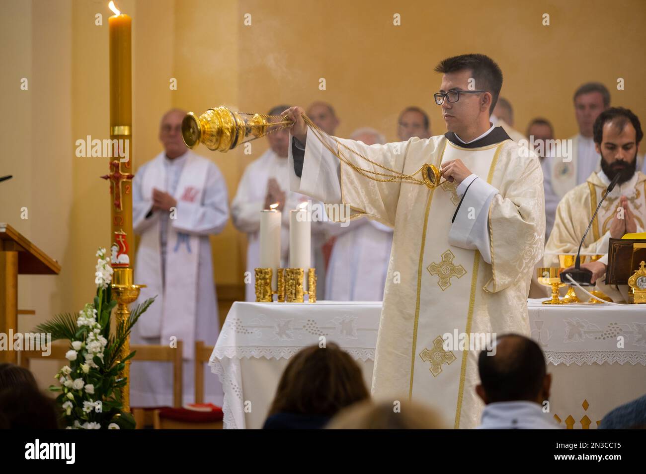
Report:
<svg viewBox="0 0 646 474"><path fill-rule="evenodd" d="M483 52L503 69L502 95L516 128L537 115L557 137L576 133L572 93L601 81L612 103L646 122L646 2L620 0L463 1L443 4L375 1L118 0L133 18L135 170L160 152L160 115L171 106L195 112L226 104L266 112L278 103L332 103L347 136L373 126L394 140L397 115L416 104L430 112L437 62ZM74 142L107 138L107 1L2 0L0 19L0 221L13 224L62 265L58 277L20 277L19 306L36 310L21 330L61 311L78 311L94 291L94 251L109 244L107 159L78 158ZM103 26L94 15L103 14ZM401 26L393 26L393 14ZM550 26L541 15L550 14ZM252 26L244 26L251 14ZM28 77L29 90L19 90ZM169 79L178 90L169 89ZM318 90L324 77L327 90ZM618 77L626 90L616 90ZM267 148L202 155L218 164L233 197L246 164ZM262 185L262 183L259 183ZM20 208L28 208L28 219ZM213 237L218 284L242 281L244 235L229 224ZM223 315L224 316L224 315Z"/></svg>

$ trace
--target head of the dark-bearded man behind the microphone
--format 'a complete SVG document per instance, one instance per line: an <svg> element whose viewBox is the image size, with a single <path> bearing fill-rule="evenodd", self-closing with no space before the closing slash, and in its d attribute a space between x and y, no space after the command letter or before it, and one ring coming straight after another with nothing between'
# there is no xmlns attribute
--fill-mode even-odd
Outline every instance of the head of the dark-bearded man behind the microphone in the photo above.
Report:
<svg viewBox="0 0 646 474"><path fill-rule="evenodd" d="M640 119L623 107L611 107L599 114L593 126L594 147L601 155L601 170L612 181L617 174L619 184L629 181L635 173L637 153L643 138Z"/></svg>

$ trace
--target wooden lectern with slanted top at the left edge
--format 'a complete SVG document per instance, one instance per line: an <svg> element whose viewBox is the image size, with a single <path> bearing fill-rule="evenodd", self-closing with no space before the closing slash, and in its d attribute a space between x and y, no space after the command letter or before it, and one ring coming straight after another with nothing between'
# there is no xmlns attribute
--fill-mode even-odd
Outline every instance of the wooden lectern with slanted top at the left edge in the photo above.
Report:
<svg viewBox="0 0 646 474"><path fill-rule="evenodd" d="M18 274L58 275L60 271L58 262L0 222L0 333L9 337L9 330L18 330ZM0 362L16 364L17 358L17 351L0 351Z"/></svg>

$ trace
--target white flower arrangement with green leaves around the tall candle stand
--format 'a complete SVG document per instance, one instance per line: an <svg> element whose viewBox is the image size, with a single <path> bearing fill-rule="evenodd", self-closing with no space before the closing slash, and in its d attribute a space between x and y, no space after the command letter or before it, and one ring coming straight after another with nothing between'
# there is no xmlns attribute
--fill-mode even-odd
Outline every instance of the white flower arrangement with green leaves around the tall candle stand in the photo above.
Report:
<svg viewBox="0 0 646 474"><path fill-rule="evenodd" d="M36 331L50 333L52 341L70 341L70 350L65 354L69 362L55 376L60 385L49 388L61 392L56 402L63 411L66 428L132 429L135 426L132 415L122 410L121 388L127 380L120 378L120 373L135 352L121 359L121 349L132 327L154 298L138 304L128 321L119 321L114 333L110 334L112 309L117 304L110 294L113 270L105 248L99 248L96 256L94 302L86 304L78 315L56 315L51 321L39 324Z"/></svg>

